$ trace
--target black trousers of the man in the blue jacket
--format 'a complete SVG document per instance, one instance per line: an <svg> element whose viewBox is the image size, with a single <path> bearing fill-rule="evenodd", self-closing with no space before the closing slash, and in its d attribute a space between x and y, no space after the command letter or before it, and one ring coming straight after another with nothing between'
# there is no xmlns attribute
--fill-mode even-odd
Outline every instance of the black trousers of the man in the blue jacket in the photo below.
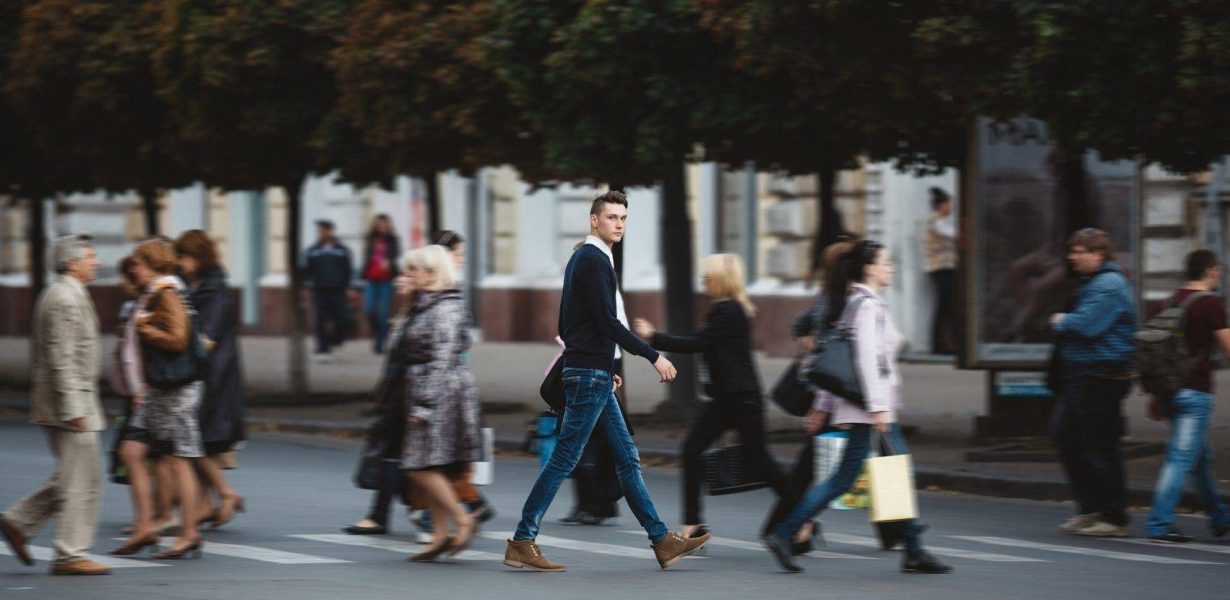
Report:
<svg viewBox="0 0 1230 600"><path fill-rule="evenodd" d="M1128 380L1068 379L1050 418L1050 434L1076 495L1077 513L1096 513L1113 525L1128 524L1119 438L1123 398L1130 387Z"/></svg>

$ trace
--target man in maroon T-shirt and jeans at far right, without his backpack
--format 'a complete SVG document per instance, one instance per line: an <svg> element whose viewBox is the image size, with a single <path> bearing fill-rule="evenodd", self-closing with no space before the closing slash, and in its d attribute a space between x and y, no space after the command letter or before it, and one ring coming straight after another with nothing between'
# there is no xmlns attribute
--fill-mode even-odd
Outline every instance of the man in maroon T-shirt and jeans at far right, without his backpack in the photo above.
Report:
<svg viewBox="0 0 1230 600"><path fill-rule="evenodd" d="M1209 448L1209 420L1213 417L1214 348L1230 355L1230 325L1226 307L1213 295L1221 282L1221 261L1208 250L1187 255L1187 284L1175 293L1171 304L1183 306L1183 339L1191 358L1187 380L1171 398L1149 398L1149 417L1168 418L1173 425L1166 444L1166 461L1157 476L1153 510L1145 526L1149 539L1162 543L1192 541L1175 526L1175 507L1183 494L1187 476L1196 478L1196 491L1209 516L1209 532L1221 537L1230 532L1230 509L1218 493L1213 473L1213 449Z"/></svg>

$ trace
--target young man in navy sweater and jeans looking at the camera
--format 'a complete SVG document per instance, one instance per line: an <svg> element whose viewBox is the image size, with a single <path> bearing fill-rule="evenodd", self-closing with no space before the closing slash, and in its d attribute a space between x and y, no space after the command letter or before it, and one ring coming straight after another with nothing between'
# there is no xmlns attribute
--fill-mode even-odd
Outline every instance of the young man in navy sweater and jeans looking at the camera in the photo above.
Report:
<svg viewBox="0 0 1230 600"><path fill-rule="evenodd" d="M658 566L665 569L708 541L708 535L684 539L668 531L658 519L641 477L641 457L615 400L615 390L622 385L614 374L615 359L621 355L619 347L652 363L663 382L675 379L675 366L627 327L624 301L615 284L615 262L611 255L611 246L624 239L626 223L627 199L624 194L608 192L594 199L589 210L590 235L572 253L565 270L560 336L566 348L561 360L567 409L555 451L546 467L539 472L522 509L517 532L508 541L504 564L509 567L563 570L562 564L542 556L534 539L542 515L555 499L560 484L581 460L595 427L606 434L615 454L620 489L648 534Z"/></svg>

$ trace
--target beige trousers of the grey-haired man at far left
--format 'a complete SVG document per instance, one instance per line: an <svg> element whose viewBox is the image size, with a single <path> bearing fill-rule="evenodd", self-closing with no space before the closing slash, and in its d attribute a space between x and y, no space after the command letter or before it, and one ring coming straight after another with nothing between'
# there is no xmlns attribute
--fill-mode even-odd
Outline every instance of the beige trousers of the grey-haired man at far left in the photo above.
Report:
<svg viewBox="0 0 1230 600"><path fill-rule="evenodd" d="M84 561L93 546L102 505L102 467L98 464L98 432L70 432L46 428L55 472L34 493L5 510L6 521L21 535L33 539L53 516L58 563Z"/></svg>

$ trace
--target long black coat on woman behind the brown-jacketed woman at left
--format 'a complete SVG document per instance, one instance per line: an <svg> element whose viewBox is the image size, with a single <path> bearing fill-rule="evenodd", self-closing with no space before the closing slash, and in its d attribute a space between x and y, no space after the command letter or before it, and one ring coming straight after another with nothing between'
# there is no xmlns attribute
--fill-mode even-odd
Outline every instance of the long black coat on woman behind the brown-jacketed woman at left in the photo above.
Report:
<svg viewBox="0 0 1230 600"><path fill-rule="evenodd" d="M209 374L197 418L210 454L230 449L246 438L244 430L244 371L239 355L239 305L226 286L226 272L214 269L192 286L188 299L200 315L200 328L216 345L209 353Z"/></svg>

